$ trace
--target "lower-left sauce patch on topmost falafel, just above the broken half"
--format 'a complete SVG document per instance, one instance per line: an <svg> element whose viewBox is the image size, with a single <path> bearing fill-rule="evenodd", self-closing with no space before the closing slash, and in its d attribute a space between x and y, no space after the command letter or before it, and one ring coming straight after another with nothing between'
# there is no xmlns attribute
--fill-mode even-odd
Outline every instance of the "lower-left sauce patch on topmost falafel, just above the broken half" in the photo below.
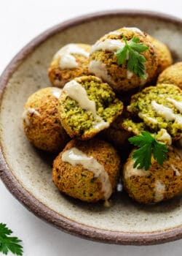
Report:
<svg viewBox="0 0 182 256"><path fill-rule="evenodd" d="M103 79L104 81L115 84L114 80L112 80L111 75L108 75L108 71L106 69L106 65L100 61L90 61L89 64L89 72L95 74L98 78Z"/></svg>

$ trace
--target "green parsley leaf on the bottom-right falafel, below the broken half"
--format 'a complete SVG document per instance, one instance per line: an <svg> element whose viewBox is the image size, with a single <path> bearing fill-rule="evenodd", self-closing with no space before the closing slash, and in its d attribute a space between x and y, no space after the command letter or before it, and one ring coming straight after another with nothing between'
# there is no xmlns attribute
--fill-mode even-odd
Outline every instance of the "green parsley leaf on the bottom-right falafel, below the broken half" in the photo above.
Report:
<svg viewBox="0 0 182 256"><path fill-rule="evenodd" d="M159 165L167 159L167 146L165 143L159 143L149 132L141 132L141 135L129 138L130 143L139 148L133 151L132 159L135 160L133 167L149 170L151 166L151 157L157 160Z"/></svg>

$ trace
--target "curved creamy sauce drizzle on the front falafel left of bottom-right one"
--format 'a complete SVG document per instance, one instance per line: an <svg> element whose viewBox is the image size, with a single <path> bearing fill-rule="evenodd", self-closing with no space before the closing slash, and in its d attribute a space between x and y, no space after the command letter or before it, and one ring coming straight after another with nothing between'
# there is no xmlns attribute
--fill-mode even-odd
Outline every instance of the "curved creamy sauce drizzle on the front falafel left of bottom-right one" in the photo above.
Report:
<svg viewBox="0 0 182 256"><path fill-rule="evenodd" d="M97 159L94 157L88 157L87 154L84 154L78 148L74 147L63 153L62 161L68 162L73 166L82 165L84 169L90 170L94 173L94 177L100 179L105 200L108 200L112 193L111 181L109 180L108 173L104 169L103 165L100 165Z"/></svg>

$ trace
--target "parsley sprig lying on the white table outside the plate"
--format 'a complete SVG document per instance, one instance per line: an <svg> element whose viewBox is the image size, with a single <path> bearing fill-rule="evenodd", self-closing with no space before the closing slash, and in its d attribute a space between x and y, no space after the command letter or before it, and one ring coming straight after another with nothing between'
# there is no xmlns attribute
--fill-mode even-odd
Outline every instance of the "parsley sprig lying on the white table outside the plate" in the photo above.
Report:
<svg viewBox="0 0 182 256"><path fill-rule="evenodd" d="M0 223L0 252L7 255L11 251L15 255L23 255L23 246L19 243L21 240L15 236L9 236L12 230L9 230L6 224Z"/></svg>

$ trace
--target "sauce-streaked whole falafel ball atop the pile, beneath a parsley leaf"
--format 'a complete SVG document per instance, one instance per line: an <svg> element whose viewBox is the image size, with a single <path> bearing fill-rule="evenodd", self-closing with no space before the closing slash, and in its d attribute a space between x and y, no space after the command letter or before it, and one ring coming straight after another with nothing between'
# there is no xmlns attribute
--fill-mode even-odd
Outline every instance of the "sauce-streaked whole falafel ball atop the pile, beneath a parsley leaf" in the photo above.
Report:
<svg viewBox="0 0 182 256"><path fill-rule="evenodd" d="M135 75L134 72L130 72L127 68L127 61L124 61L120 66L117 61L116 51L124 48L124 39L130 43L133 37L138 37L143 45L149 47L148 50L140 53L146 59L144 64L146 79ZM149 83L154 78L157 64L157 54L154 46L147 39L146 34L137 28L122 28L106 34L95 45L92 45L89 72L102 78L115 91L122 94Z"/></svg>

